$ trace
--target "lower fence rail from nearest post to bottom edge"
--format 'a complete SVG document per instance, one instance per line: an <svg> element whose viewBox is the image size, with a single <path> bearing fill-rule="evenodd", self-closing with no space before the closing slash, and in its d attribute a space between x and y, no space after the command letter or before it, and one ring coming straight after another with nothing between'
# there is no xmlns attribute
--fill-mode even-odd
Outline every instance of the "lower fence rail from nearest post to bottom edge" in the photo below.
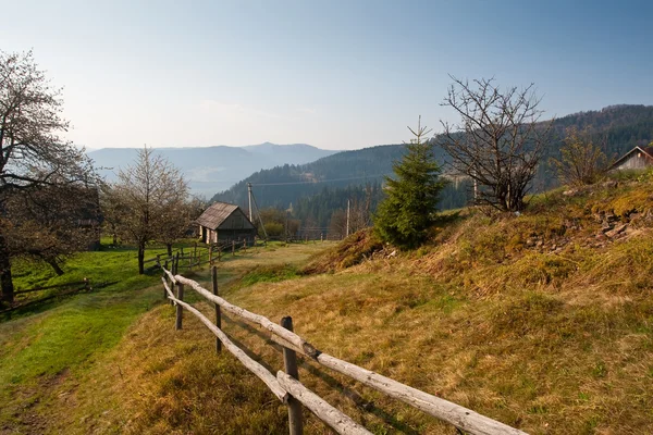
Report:
<svg viewBox="0 0 653 435"><path fill-rule="evenodd" d="M343 435L371 435L372 433L352 420L347 414L335 409L320 396L306 388L299 381L286 373L276 372L276 380L283 389L301 402L335 432Z"/></svg>

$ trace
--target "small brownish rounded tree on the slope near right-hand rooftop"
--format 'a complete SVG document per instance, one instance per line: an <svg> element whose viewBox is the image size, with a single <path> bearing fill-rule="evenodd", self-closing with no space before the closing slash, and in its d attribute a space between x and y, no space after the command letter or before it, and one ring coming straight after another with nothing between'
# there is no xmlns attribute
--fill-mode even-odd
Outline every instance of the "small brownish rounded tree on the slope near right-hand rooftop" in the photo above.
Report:
<svg viewBox="0 0 653 435"><path fill-rule="evenodd" d="M612 161L602 148L594 144L589 128L579 132L576 127L569 127L559 159L551 159L559 181L571 186L583 186L603 178Z"/></svg>

